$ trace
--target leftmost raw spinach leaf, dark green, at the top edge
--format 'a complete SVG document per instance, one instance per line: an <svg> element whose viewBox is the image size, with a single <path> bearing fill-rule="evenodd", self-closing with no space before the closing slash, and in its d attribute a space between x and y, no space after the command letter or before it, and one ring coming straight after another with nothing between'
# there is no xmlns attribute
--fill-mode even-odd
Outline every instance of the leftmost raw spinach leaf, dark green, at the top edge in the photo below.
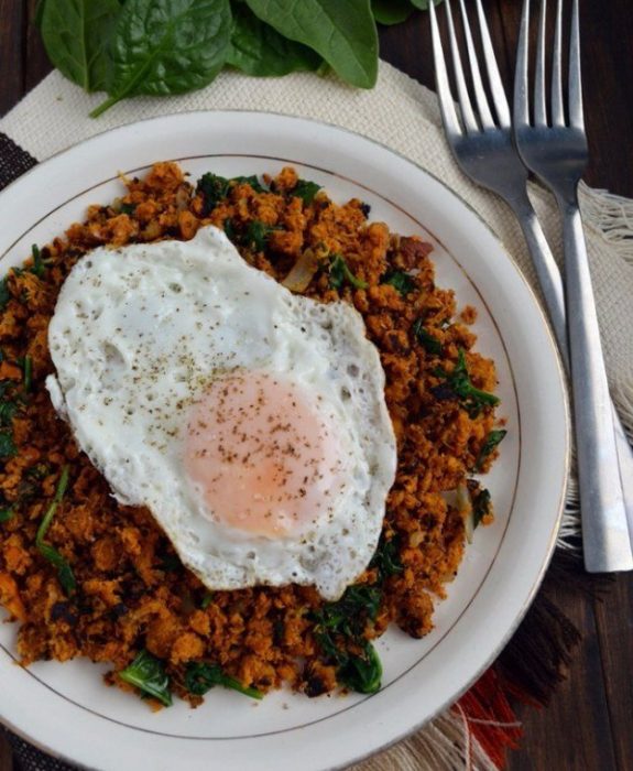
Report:
<svg viewBox="0 0 633 771"><path fill-rule="evenodd" d="M48 58L87 91L107 90L107 48L120 12L119 0L46 0L37 9Z"/></svg>

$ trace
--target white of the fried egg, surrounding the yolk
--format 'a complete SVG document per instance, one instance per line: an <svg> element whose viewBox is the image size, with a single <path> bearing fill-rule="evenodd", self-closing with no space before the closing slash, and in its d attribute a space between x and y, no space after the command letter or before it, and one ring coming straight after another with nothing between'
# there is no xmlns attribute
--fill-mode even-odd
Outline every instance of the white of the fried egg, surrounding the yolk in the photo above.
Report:
<svg viewBox="0 0 633 771"><path fill-rule="evenodd" d="M190 241L97 249L66 279L48 328L58 413L122 503L145 506L211 589L314 585L337 599L380 536L396 447L384 372L361 316L293 295L211 226ZM183 467L187 409L218 372L291 376L338 426L332 514L284 537L205 511Z"/></svg>

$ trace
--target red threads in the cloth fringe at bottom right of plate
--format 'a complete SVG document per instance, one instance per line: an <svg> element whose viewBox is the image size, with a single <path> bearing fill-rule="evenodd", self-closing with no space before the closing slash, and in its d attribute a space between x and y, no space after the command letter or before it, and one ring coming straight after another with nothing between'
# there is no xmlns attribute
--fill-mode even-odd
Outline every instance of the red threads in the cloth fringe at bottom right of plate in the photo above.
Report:
<svg viewBox="0 0 633 771"><path fill-rule="evenodd" d="M505 768L505 752L517 749L523 734L505 691L493 669L488 670L455 705L467 730L498 769ZM471 768L471 758L467 758Z"/></svg>

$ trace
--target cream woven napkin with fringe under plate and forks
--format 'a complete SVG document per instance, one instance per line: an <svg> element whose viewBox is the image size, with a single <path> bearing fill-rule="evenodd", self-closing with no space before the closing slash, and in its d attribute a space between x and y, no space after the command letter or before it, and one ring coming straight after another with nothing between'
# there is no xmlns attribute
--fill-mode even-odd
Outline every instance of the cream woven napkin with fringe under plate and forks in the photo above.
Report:
<svg viewBox="0 0 633 771"><path fill-rule="evenodd" d="M381 63L378 85L370 91L354 90L334 77L312 74L257 79L227 72L204 90L164 99L135 98L91 120L88 112L100 100L101 95L88 96L54 73L0 120L0 132L43 161L108 129L190 110L263 110L335 123L389 145L439 177L490 225L538 293L514 216L499 198L465 177L455 164L441 131L437 98L385 63ZM560 259L560 224L554 200L536 185L531 187L531 197L554 253ZM631 437L633 200L582 186L581 206L611 390ZM572 521L570 525L574 526ZM438 763L443 768L463 768L458 741L462 731L459 719L446 713L407 741L357 768L436 771ZM476 752L474 765L492 768L489 762L484 754Z"/></svg>

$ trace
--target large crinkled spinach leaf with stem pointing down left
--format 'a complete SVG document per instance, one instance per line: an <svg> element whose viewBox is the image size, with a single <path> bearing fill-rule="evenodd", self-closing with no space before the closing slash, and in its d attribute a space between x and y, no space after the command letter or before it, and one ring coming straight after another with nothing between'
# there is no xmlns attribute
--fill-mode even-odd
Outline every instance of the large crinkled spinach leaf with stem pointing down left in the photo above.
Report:
<svg viewBox="0 0 633 771"><path fill-rule="evenodd" d="M110 47L110 98L90 116L125 97L208 85L225 64L231 28L229 0L127 0Z"/></svg>

